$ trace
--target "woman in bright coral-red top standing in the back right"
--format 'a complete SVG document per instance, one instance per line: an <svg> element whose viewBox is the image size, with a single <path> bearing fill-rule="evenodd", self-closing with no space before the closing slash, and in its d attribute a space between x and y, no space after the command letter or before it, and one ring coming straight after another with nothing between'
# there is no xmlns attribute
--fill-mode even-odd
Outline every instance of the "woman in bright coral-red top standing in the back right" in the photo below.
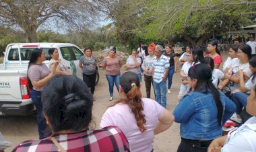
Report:
<svg viewBox="0 0 256 152"><path fill-rule="evenodd" d="M214 59L214 68L219 69L220 63L222 63L222 56L220 56L220 50L218 50L218 41L212 40L207 44L208 54L205 56L210 56Z"/></svg>

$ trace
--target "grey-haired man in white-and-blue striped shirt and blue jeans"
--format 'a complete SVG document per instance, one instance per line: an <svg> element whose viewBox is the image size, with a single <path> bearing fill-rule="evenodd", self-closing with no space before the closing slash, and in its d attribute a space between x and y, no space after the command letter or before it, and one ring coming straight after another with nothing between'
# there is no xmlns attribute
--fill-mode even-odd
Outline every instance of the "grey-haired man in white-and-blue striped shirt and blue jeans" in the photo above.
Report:
<svg viewBox="0 0 256 152"><path fill-rule="evenodd" d="M156 45L156 56L152 63L152 75L156 102L166 108L166 77L169 72L170 64L168 58L162 54L162 50L162 46Z"/></svg>

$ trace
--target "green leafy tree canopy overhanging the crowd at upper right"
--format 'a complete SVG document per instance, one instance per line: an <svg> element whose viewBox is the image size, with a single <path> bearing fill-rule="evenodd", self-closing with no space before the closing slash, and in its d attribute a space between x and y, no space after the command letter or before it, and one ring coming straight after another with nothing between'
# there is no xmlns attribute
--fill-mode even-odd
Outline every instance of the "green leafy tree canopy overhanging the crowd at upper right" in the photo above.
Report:
<svg viewBox="0 0 256 152"><path fill-rule="evenodd" d="M216 34L252 24L255 1L143 0L137 5L137 26L132 29L144 40L185 38L193 46Z"/></svg>

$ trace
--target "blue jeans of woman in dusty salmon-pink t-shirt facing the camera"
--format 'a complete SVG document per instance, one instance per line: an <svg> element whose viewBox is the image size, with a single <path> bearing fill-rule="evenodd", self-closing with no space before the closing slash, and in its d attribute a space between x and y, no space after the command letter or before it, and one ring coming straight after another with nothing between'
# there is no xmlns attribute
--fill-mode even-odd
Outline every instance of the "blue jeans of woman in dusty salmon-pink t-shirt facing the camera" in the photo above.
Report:
<svg viewBox="0 0 256 152"><path fill-rule="evenodd" d="M106 79L108 80L109 94L110 97L114 96L114 82L117 87L117 91L119 92L119 83L121 79L121 75L106 75Z"/></svg>

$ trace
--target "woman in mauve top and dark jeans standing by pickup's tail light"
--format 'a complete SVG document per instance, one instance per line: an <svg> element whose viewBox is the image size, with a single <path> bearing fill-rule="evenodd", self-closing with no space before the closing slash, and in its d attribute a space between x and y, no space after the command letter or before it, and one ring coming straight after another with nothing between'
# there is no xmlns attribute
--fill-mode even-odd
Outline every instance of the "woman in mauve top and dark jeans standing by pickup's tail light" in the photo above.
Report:
<svg viewBox="0 0 256 152"><path fill-rule="evenodd" d="M42 102L41 93L44 85L55 75L55 70L59 62L56 61L53 70L51 71L44 63L46 60L45 53L42 48L34 49L30 54L30 62L28 63L28 85L32 89L30 98L34 106L36 106L36 123L38 126L39 139L44 138L44 130L46 129L46 122L42 116Z"/></svg>

